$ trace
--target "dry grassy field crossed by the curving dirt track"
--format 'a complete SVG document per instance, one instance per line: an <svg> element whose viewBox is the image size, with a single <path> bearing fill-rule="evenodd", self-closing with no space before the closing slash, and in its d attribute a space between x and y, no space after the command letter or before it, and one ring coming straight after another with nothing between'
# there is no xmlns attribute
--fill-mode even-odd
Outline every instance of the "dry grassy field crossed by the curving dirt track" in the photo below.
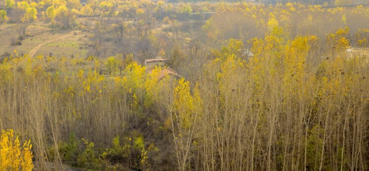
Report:
<svg viewBox="0 0 369 171"><path fill-rule="evenodd" d="M19 27L17 24L0 25L0 55L11 53L14 50L20 54L29 54L40 43L55 39L72 31L52 29L49 27L49 24L37 21L28 26L26 36L24 36L23 40L20 40L18 36ZM87 34L81 31L74 31L73 33L72 36L65 39L45 44L38 49L35 56L48 56L50 52L54 56L59 57L71 57L72 54L74 56L78 54L80 57L87 56L87 52L91 49L91 47L84 46L88 42ZM21 45L11 45L12 42L20 42Z"/></svg>

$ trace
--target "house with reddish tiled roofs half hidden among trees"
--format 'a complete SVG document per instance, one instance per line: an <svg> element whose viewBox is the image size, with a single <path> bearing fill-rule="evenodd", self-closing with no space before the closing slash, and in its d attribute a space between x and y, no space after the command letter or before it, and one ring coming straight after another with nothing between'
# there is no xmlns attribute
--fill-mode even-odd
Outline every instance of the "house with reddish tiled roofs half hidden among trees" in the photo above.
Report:
<svg viewBox="0 0 369 171"><path fill-rule="evenodd" d="M163 69L160 71L159 80L163 79L165 76L169 75L173 78L181 78L182 76L178 74L175 70L165 67L167 59L162 57L155 57L152 59L145 59L146 73L151 74L155 66L161 66Z"/></svg>

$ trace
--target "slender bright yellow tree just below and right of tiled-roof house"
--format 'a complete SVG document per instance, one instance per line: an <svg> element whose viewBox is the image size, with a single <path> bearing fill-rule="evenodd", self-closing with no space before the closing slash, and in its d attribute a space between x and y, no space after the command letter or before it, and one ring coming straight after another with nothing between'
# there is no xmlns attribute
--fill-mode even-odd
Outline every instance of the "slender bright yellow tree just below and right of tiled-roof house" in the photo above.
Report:
<svg viewBox="0 0 369 171"><path fill-rule="evenodd" d="M202 102L197 86L190 92L188 81L180 79L174 88L173 104L170 104L171 112L170 128L173 133L173 141L176 149L178 169L189 169L189 158L193 142L194 132L198 118L202 114Z"/></svg>

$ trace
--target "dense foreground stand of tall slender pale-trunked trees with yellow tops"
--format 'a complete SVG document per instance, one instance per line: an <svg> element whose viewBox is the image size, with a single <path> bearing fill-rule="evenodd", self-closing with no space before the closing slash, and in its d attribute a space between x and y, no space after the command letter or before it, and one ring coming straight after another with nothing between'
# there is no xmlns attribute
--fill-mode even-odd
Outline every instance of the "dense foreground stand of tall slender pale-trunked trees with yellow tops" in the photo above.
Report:
<svg viewBox="0 0 369 171"><path fill-rule="evenodd" d="M203 29L226 45L179 66L199 71L190 79L132 55L14 51L0 63L0 128L31 140L39 170L368 170L368 9L224 4Z"/></svg>

